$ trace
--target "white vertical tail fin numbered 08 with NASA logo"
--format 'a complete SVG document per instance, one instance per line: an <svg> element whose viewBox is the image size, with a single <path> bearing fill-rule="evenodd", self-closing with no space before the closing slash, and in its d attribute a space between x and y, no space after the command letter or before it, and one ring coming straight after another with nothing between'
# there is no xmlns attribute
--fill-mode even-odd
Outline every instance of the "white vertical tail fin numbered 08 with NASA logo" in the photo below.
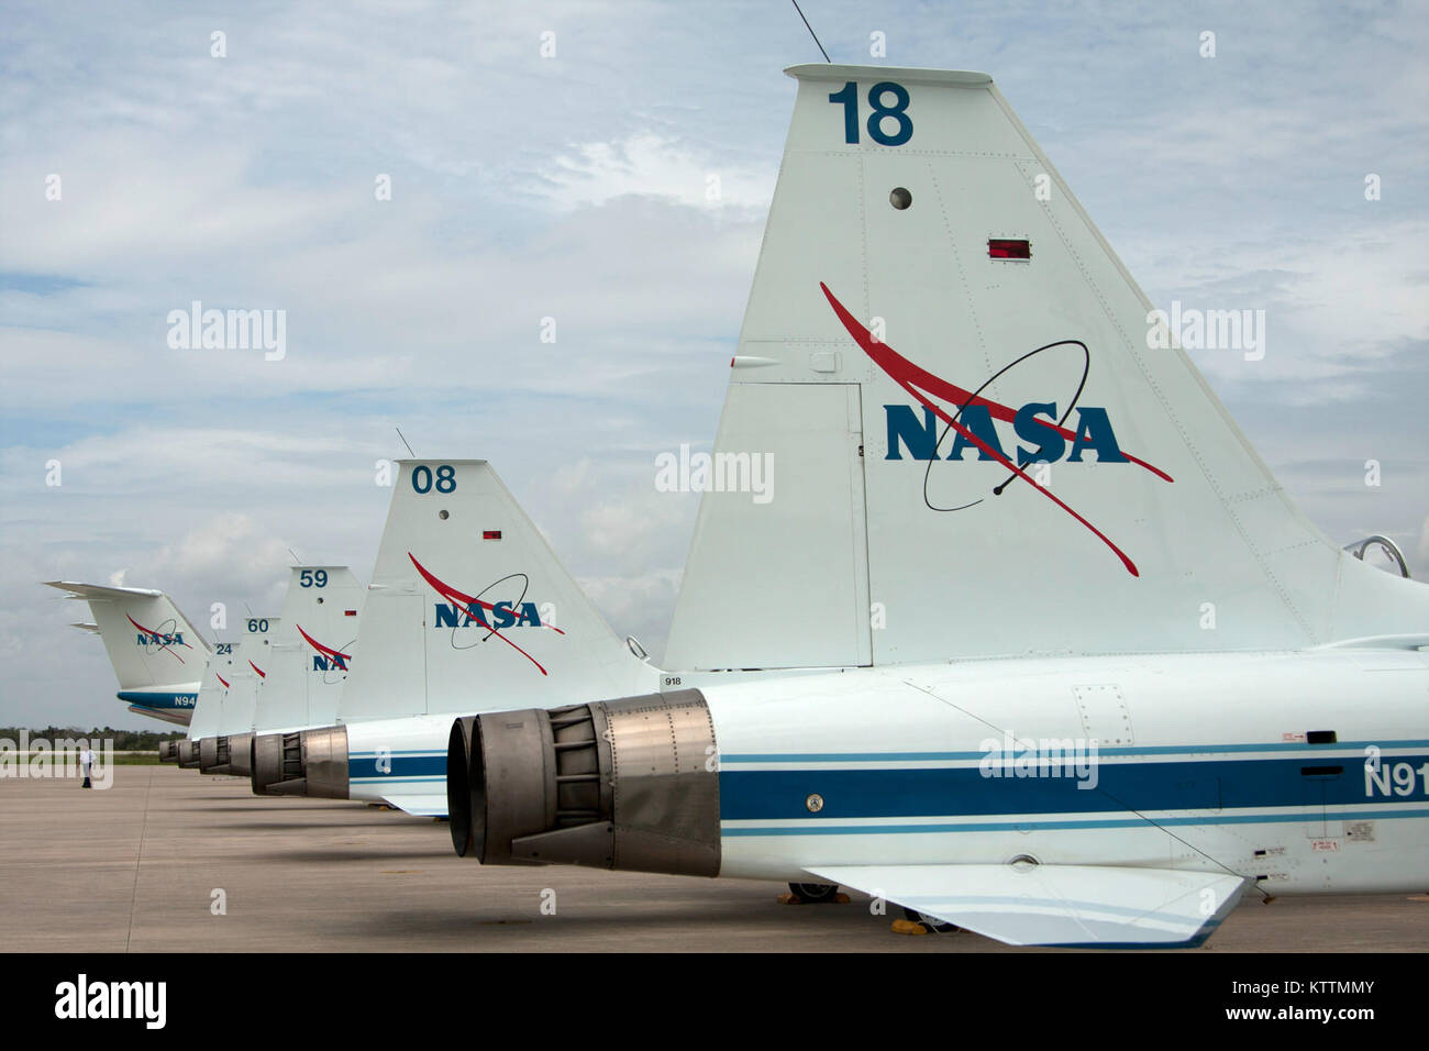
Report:
<svg viewBox="0 0 1429 1051"><path fill-rule="evenodd" d="M486 460L399 463L362 649L343 722L620 696L654 676Z"/></svg>

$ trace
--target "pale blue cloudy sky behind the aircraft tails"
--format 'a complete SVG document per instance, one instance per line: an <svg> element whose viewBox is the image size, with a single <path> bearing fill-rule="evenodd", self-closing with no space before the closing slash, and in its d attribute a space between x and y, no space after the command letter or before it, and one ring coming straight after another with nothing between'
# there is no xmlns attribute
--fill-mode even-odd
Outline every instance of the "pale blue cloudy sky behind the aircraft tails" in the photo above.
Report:
<svg viewBox="0 0 1429 1051"><path fill-rule="evenodd" d="M803 7L836 61L990 73L1157 305L1265 309L1209 382L1333 539L1429 576L1423 4ZM366 579L396 426L490 459L659 656L699 498L654 456L713 438L817 59L777 0L7 4L0 725L157 725L39 581L200 621L276 612L289 549ZM286 310L287 356L171 349L193 300Z"/></svg>

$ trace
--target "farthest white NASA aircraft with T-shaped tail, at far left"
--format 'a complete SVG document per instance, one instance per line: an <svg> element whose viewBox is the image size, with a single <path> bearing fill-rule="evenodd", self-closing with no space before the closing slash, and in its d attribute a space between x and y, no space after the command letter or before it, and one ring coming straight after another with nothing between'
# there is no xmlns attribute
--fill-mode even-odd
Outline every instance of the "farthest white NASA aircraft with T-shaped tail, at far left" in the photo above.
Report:
<svg viewBox="0 0 1429 1051"><path fill-rule="evenodd" d="M93 623L119 678L119 699L129 711L180 726L189 725L199 684L211 656L204 638L161 591L46 581L89 602Z"/></svg>

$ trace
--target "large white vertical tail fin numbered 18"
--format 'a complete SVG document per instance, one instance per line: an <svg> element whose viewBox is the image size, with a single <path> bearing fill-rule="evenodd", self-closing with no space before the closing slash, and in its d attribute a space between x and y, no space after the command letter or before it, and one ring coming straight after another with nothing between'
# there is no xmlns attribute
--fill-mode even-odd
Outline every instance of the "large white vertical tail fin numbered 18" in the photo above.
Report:
<svg viewBox="0 0 1429 1051"><path fill-rule="evenodd" d="M1429 631L1429 589L1325 538L1157 349L1152 305L989 77L787 71L714 445L773 453L776 483L702 499L667 668ZM779 565L797 572L772 591Z"/></svg>

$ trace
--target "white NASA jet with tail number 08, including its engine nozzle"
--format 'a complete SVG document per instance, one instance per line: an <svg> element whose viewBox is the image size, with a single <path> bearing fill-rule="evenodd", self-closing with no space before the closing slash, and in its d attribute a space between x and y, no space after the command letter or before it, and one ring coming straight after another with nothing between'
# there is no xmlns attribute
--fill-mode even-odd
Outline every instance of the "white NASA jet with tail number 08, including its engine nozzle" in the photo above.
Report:
<svg viewBox="0 0 1429 1051"><path fill-rule="evenodd" d="M484 460L399 462L360 641L334 725L260 736L254 785L444 816L453 715L657 688Z"/></svg>

